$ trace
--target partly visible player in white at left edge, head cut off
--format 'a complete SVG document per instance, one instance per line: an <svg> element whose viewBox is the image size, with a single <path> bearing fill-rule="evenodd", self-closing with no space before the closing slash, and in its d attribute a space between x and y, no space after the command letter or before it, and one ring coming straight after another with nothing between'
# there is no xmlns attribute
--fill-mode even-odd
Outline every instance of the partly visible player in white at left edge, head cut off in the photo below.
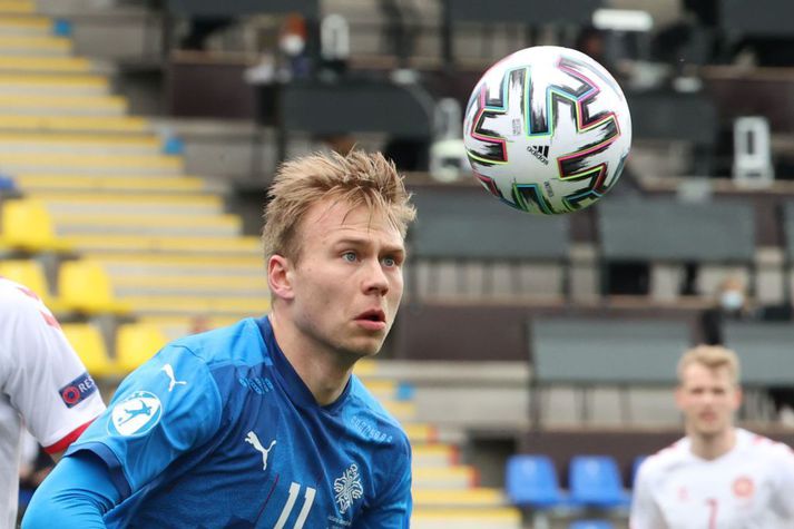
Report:
<svg viewBox="0 0 794 529"><path fill-rule="evenodd" d="M0 277L0 529L17 526L22 429L57 458L102 410L52 313L29 288Z"/></svg>

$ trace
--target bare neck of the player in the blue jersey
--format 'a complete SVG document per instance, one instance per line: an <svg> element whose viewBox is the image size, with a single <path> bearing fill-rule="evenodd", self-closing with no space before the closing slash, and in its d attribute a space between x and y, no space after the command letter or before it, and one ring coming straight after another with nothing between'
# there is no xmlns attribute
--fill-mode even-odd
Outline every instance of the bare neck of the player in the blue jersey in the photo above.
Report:
<svg viewBox="0 0 794 529"><path fill-rule="evenodd" d="M320 405L336 401L353 372L354 361L345 362L339 352L318 347L301 334L290 319L269 314L273 333L284 356Z"/></svg>

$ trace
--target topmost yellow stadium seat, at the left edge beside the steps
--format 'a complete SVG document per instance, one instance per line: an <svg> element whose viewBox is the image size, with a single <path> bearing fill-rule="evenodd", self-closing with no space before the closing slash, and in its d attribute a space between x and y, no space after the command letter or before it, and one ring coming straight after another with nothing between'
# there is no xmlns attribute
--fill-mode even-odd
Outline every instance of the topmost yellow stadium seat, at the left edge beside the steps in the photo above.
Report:
<svg viewBox="0 0 794 529"><path fill-rule="evenodd" d="M2 207L2 243L27 252L68 251L56 236L52 218L41 200L16 198Z"/></svg>

